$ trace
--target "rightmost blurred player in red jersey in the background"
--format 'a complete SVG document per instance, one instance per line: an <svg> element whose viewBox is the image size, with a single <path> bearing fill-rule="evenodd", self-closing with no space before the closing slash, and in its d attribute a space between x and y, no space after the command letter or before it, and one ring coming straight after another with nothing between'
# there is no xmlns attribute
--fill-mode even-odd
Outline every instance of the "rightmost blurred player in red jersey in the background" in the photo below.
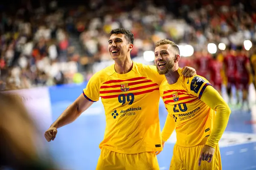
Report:
<svg viewBox="0 0 256 170"><path fill-rule="evenodd" d="M237 48L236 56L236 91L239 102L239 91L242 91L242 108L244 108L244 103L246 102L247 108L249 108L248 102L248 90L249 90L249 78L250 78L250 60L245 55L242 46Z"/></svg>

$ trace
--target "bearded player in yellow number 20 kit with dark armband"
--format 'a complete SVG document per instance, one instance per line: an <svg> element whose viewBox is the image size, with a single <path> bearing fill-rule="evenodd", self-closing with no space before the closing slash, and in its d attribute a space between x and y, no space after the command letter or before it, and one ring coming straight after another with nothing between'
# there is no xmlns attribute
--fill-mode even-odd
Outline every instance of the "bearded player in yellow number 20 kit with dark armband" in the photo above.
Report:
<svg viewBox="0 0 256 170"><path fill-rule="evenodd" d="M174 42L156 43L155 65L159 74L166 77L160 85L168 111L162 144L173 130L177 135L170 170L221 170L218 142L227 126L230 108L207 79L198 75L184 77L179 59L180 51Z"/></svg>

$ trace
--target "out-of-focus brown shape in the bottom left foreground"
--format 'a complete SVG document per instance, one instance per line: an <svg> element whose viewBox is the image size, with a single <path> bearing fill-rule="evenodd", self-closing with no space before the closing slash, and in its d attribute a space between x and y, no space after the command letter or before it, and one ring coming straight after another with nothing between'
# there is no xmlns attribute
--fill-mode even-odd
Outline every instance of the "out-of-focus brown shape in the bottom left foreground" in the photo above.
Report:
<svg viewBox="0 0 256 170"><path fill-rule="evenodd" d="M38 153L38 130L21 98L0 93L0 108L0 169L56 170L49 157Z"/></svg>

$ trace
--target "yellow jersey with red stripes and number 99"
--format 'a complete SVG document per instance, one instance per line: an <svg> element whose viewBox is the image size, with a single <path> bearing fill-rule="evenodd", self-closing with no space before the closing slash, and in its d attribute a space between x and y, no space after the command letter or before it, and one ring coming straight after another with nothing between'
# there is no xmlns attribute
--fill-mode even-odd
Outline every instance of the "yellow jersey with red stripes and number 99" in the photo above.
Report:
<svg viewBox="0 0 256 170"><path fill-rule="evenodd" d="M83 94L90 101L101 97L105 108L100 148L126 154L162 150L158 107L163 79L155 66L136 62L127 74L117 74L111 65L93 75Z"/></svg>

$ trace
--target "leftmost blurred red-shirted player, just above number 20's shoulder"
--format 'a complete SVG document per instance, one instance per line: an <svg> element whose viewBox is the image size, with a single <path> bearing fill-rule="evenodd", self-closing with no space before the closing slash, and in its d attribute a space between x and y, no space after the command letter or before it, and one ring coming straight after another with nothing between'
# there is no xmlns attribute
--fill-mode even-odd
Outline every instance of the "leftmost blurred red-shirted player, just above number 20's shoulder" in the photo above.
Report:
<svg viewBox="0 0 256 170"><path fill-rule="evenodd" d="M198 54L197 58L195 59L197 74L205 77L206 79L210 79L208 68L210 59L209 54L205 50L203 50L201 54Z"/></svg>

